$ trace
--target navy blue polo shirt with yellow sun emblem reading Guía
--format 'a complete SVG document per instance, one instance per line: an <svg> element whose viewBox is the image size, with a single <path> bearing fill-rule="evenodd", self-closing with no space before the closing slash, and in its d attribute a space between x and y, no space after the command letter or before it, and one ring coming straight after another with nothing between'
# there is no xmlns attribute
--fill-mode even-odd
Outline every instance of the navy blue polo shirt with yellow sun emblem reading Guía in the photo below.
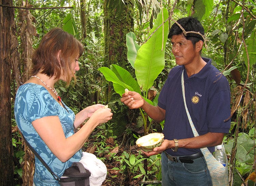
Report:
<svg viewBox="0 0 256 186"><path fill-rule="evenodd" d="M211 59L203 58L207 64L197 74L187 76L184 66L174 67L164 84L158 106L166 110L163 134L165 139L193 138L184 106L181 75L184 70L184 85L187 108L199 135L207 132L228 133L230 120L230 88L224 75L220 75ZM219 75L218 75L219 74ZM208 147L210 152L214 147ZM200 149L179 148L177 152L167 149L172 156L185 156L200 152Z"/></svg>

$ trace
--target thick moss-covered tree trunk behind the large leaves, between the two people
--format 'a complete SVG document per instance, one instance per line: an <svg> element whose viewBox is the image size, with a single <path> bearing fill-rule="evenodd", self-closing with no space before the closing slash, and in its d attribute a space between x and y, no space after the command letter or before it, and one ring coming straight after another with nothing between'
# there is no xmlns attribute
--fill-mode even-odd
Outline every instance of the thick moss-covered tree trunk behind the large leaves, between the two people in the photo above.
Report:
<svg viewBox="0 0 256 186"><path fill-rule="evenodd" d="M132 15L133 1L122 0L104 0L104 37L105 37L105 51L104 51L104 66L110 67L111 64L119 65L123 68L130 66L127 60L126 34L134 29ZM113 85L109 83L104 91L105 101L110 103L111 109L120 110L120 96L113 96ZM114 101L117 100L117 101ZM113 110L114 112L114 110ZM114 114L111 120L113 126L113 134L120 135L126 129L127 116Z"/></svg>

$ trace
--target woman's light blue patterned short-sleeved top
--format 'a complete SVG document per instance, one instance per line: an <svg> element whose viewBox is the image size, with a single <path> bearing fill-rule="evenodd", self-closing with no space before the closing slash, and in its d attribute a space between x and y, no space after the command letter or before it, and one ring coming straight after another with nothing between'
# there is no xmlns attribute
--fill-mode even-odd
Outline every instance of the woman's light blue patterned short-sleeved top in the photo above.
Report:
<svg viewBox="0 0 256 186"><path fill-rule="evenodd" d="M65 105L66 106L66 105ZM32 121L45 116L58 116L66 138L74 134L75 114L66 106L63 108L41 85L27 83L18 88L14 104L14 114L17 126L28 143L43 158L52 171L59 177L65 169L82 157L82 150L78 151L66 162L61 162L47 147L32 126ZM58 145L58 144L56 144ZM35 157L34 184L36 186L58 186L52 174Z"/></svg>

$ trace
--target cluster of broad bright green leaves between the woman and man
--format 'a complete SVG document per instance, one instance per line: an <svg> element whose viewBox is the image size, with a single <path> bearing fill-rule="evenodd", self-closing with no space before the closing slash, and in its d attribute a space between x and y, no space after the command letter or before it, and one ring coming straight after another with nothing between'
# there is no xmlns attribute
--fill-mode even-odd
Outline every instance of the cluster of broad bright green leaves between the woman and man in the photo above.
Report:
<svg viewBox="0 0 256 186"><path fill-rule="evenodd" d="M164 10L165 20L168 17L168 14L166 9ZM99 68L101 73L103 73L103 75L105 76L106 80L113 82L114 89L119 95L122 95L124 93L125 88L128 88L129 90L136 91L139 94L141 94L140 86L142 86L142 89L144 91L147 91L153 85L154 80L162 71L164 67L165 54L165 47L163 47L162 50L162 43L163 46L165 46L165 43L167 41L168 22L166 22L165 24L165 37L162 41L162 34L160 34L163 32L162 27L156 30L156 28L160 26L160 24L162 23L160 22L160 20L161 13L158 16L157 21L155 22L154 28L149 34L150 38L140 48L138 47L138 45L133 44L134 39L132 37L134 37L134 34L127 34L127 38L132 38L131 40L128 40L127 46L131 47L131 49L129 48L128 51L133 51L133 53L129 53L130 56L128 56L128 60L131 60L132 64L135 58L134 68L137 82L132 78L128 71L117 65L112 65L111 69L106 67ZM153 34L151 35L151 33ZM138 53L136 53L137 48L139 48Z"/></svg>

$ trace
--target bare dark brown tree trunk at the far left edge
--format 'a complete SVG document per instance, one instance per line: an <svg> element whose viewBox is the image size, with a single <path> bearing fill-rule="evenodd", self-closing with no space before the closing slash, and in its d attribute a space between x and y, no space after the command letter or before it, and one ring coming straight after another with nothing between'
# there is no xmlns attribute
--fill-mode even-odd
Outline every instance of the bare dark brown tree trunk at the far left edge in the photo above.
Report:
<svg viewBox="0 0 256 186"><path fill-rule="evenodd" d="M12 0L0 0L0 4L12 6ZM0 7L0 186L14 185L14 163L11 123L11 37L10 25L14 9Z"/></svg>

